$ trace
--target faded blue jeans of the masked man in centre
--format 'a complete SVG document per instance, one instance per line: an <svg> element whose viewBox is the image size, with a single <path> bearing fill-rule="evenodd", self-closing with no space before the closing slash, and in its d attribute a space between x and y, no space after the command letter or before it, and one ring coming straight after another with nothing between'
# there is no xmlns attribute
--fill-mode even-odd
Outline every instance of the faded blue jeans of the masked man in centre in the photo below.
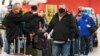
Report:
<svg viewBox="0 0 100 56"><path fill-rule="evenodd" d="M52 44L52 56L69 56L70 54L71 42L67 41L65 43L53 43Z"/></svg>

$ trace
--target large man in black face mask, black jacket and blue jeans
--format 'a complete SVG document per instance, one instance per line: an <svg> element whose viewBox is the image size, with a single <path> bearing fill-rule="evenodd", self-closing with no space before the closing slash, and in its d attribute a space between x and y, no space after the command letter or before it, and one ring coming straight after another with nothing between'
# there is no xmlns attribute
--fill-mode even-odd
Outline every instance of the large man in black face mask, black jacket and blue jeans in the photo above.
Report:
<svg viewBox="0 0 100 56"><path fill-rule="evenodd" d="M53 16L44 36L52 29L52 56L69 56L71 40L75 36L75 25L72 14L66 10L64 4L59 5L58 13Z"/></svg>

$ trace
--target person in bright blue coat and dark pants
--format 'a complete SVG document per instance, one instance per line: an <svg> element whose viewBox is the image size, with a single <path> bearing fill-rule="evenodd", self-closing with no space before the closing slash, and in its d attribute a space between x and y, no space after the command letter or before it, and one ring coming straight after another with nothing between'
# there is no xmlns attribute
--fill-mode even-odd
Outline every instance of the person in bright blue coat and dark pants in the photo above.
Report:
<svg viewBox="0 0 100 56"><path fill-rule="evenodd" d="M87 14L82 14L82 17L78 19L78 28L81 36L81 54L88 56L90 49L90 36L91 32L89 28L94 27L95 22Z"/></svg>

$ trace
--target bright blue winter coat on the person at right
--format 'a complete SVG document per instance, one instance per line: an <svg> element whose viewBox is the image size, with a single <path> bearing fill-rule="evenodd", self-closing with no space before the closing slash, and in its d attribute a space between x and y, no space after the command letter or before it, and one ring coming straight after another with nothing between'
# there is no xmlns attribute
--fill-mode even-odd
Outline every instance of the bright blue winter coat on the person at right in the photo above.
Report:
<svg viewBox="0 0 100 56"><path fill-rule="evenodd" d="M86 25L90 25L91 27L95 26L95 22L88 15L83 14L82 17L78 21L79 31L81 36L90 36L89 28Z"/></svg>

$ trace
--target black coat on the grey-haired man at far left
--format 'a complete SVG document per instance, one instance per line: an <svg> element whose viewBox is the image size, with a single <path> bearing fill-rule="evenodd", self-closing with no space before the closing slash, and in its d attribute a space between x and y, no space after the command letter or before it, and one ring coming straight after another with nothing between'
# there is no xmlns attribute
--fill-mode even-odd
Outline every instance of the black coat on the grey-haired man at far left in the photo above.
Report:
<svg viewBox="0 0 100 56"><path fill-rule="evenodd" d="M24 21L22 12L14 14L12 11L5 18L6 37L8 42L14 41L22 35L22 22Z"/></svg>

